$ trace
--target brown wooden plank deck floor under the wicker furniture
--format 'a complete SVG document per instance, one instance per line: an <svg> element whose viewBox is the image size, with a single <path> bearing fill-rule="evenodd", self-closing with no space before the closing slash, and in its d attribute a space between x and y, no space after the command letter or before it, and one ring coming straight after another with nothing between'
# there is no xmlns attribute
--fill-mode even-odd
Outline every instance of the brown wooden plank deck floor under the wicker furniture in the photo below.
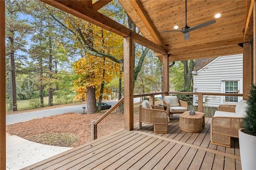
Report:
<svg viewBox="0 0 256 170"><path fill-rule="evenodd" d="M172 116L168 134L156 134L153 125L138 124L53 156L24 169L242 169L238 139L231 148L210 144L210 118L200 133L179 129Z"/></svg>

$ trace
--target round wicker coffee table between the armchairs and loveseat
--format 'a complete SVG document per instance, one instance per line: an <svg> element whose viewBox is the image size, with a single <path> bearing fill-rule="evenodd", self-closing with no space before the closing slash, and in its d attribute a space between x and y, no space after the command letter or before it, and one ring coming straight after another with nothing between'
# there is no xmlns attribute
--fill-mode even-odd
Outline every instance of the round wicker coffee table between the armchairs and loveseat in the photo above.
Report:
<svg viewBox="0 0 256 170"><path fill-rule="evenodd" d="M190 115L189 111L180 114L180 130L191 133L199 133L205 124L204 113L196 112Z"/></svg>

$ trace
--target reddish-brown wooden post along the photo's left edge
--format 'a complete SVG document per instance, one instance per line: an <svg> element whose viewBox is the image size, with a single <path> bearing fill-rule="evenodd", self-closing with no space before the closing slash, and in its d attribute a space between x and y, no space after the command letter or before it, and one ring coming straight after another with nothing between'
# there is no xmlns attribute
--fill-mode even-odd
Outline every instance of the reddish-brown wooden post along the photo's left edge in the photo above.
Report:
<svg viewBox="0 0 256 170"><path fill-rule="evenodd" d="M6 169L5 1L0 0L0 169Z"/></svg>

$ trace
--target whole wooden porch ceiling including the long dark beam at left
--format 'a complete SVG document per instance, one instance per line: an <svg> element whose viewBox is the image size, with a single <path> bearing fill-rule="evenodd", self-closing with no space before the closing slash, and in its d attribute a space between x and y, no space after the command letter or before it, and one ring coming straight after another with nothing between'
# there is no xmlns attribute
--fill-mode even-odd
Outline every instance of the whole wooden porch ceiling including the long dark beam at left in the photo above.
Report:
<svg viewBox="0 0 256 170"><path fill-rule="evenodd" d="M144 38L97 11L111 0L41 1L120 36L132 36L134 42L153 49L161 61L165 54L171 54L169 61L240 54L243 49L238 43L250 41L253 35L254 0L188 0L190 27L213 20L216 13L222 14L215 24L190 32L189 40L184 40L180 32L162 33L174 30L174 25L179 26L178 30L184 27L184 0L119 0Z"/></svg>

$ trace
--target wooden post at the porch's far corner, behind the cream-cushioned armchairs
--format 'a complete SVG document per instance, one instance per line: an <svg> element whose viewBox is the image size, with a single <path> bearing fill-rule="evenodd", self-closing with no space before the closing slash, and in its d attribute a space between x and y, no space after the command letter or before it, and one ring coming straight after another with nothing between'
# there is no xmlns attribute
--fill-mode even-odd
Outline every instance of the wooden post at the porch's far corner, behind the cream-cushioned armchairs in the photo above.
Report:
<svg viewBox="0 0 256 170"><path fill-rule="evenodd" d="M169 91L169 57L168 55L163 55L163 90ZM163 96L166 96L164 94Z"/></svg>

